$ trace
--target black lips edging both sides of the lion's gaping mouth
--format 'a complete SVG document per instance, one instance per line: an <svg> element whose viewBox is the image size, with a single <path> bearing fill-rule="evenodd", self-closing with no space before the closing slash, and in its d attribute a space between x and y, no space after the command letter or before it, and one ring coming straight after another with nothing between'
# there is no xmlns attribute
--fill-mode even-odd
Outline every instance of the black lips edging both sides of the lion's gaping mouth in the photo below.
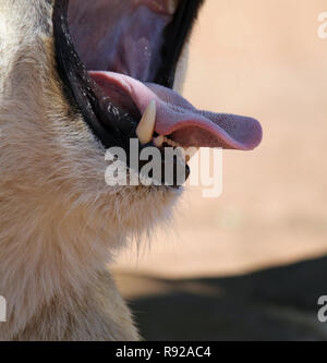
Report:
<svg viewBox="0 0 327 363"><path fill-rule="evenodd" d="M155 83L172 87L177 64L203 0L182 0L172 23L166 28L162 47L164 66ZM69 0L55 0L53 35L56 62L63 88L72 108L82 113L94 134L106 147L120 146L129 154L130 138L136 137L140 120L117 107L88 75L70 36ZM140 145L140 150L146 145ZM141 166L142 167L142 166ZM187 172L189 173L189 172Z"/></svg>

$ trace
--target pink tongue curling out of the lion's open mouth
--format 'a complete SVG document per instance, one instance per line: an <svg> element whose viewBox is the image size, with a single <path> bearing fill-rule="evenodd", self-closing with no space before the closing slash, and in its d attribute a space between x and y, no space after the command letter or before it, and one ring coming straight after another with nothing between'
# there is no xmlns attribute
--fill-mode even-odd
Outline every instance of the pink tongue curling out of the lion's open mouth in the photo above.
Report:
<svg viewBox="0 0 327 363"><path fill-rule="evenodd" d="M152 83L144 84L113 72L89 72L105 93L126 108L138 108L143 114L155 99L155 131L184 147L223 147L250 150L262 141L262 126L255 119L202 111L175 92ZM130 96L126 97L128 95ZM134 105L133 105L134 104Z"/></svg>

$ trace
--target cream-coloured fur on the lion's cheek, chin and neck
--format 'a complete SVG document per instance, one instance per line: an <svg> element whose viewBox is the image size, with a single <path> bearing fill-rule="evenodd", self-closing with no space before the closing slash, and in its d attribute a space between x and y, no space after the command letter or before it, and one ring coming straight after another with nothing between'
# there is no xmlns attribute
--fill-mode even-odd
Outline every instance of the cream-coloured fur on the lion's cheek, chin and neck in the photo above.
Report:
<svg viewBox="0 0 327 363"><path fill-rule="evenodd" d="M0 1L0 340L137 340L108 270L180 192L109 187L55 69L52 4Z"/></svg>

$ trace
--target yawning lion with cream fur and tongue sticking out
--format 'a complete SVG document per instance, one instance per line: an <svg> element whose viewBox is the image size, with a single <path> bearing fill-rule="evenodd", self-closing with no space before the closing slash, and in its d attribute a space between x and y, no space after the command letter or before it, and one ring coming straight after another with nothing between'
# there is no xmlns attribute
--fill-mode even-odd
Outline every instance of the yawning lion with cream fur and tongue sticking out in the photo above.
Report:
<svg viewBox="0 0 327 363"><path fill-rule="evenodd" d="M183 185L108 185L108 149L259 144L255 119L178 93L203 2L1 0L1 340L141 339L110 263Z"/></svg>

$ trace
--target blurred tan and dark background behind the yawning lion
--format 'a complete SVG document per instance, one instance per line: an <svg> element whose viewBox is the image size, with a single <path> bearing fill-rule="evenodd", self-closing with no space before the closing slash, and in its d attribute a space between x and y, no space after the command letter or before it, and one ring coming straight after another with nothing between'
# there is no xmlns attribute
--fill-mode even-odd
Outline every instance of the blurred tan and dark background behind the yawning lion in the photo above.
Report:
<svg viewBox="0 0 327 363"><path fill-rule="evenodd" d="M317 340L327 295L325 0L207 0L184 96L253 116L251 153L225 152L223 193L191 189L169 231L119 256L116 276L154 339Z"/></svg>

